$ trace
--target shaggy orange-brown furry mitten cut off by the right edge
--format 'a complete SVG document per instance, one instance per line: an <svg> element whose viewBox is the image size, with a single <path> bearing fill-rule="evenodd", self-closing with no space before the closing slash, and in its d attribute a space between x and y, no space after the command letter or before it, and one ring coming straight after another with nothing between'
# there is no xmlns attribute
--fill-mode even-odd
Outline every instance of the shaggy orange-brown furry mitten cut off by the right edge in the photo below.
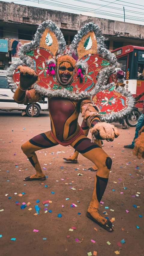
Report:
<svg viewBox="0 0 144 256"><path fill-rule="evenodd" d="M142 127L142 129L143 128L144 126ZM139 159L144 158L144 132L141 132L139 137L135 140L133 154Z"/></svg>

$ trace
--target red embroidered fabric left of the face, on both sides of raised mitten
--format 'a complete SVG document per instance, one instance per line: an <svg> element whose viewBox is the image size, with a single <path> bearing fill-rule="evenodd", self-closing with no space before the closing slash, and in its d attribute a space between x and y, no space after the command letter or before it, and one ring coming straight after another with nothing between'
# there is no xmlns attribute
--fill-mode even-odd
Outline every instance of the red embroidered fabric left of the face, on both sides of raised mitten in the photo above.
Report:
<svg viewBox="0 0 144 256"><path fill-rule="evenodd" d="M47 65L46 60L53 58L52 54L48 50L38 48L31 50L25 54L32 59L33 69L38 75L37 84L46 89L51 89L55 86L55 77L53 75L46 74ZM13 74L13 81L19 86L19 71L16 69Z"/></svg>

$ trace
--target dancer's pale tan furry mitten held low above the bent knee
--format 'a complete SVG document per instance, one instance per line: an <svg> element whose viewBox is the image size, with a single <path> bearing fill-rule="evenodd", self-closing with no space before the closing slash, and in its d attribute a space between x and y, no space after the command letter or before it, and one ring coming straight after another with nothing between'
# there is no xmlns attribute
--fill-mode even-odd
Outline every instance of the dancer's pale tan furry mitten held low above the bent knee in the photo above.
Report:
<svg viewBox="0 0 144 256"><path fill-rule="evenodd" d="M114 138L119 136L118 128L106 122L97 123L93 128L91 128L91 133L98 140L113 141ZM94 136L92 140L94 140Z"/></svg>

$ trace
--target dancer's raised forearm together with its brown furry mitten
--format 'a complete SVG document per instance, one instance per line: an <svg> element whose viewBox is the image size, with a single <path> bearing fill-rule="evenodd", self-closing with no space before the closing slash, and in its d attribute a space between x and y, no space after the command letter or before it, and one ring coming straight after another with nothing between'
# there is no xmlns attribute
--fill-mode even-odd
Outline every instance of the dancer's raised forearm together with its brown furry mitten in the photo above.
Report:
<svg viewBox="0 0 144 256"><path fill-rule="evenodd" d="M38 76L35 71L28 67L19 66L17 68L20 72L19 87L14 93L14 100L19 104L27 104L37 102L41 96L32 85L37 81Z"/></svg>

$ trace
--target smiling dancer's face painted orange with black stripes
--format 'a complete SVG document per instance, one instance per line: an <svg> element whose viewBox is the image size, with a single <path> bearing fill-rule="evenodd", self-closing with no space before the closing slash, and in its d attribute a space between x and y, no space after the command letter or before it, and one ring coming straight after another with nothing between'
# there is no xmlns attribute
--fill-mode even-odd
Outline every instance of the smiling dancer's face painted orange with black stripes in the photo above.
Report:
<svg viewBox="0 0 144 256"><path fill-rule="evenodd" d="M67 83L73 74L73 66L70 62L61 62L59 65L58 74L62 83Z"/></svg>

